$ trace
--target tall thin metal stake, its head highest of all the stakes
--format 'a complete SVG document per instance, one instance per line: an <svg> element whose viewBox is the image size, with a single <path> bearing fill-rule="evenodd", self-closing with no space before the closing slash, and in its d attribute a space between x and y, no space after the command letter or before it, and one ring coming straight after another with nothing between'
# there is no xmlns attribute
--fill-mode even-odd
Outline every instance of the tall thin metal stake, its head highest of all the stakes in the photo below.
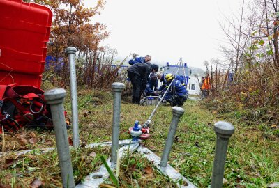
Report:
<svg viewBox="0 0 279 188"><path fill-rule="evenodd" d="M79 125L78 125L78 112L77 112L77 77L75 74L75 53L77 49L75 47L68 47L66 49L69 58L70 67L70 97L72 101L72 125L73 125L73 146L79 147Z"/></svg>

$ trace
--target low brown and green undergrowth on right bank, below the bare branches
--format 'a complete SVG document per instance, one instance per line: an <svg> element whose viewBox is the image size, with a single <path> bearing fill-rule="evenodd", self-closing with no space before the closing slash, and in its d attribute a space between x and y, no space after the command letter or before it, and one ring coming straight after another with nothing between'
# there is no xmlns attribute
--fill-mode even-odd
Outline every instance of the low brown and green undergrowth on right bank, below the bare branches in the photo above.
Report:
<svg viewBox="0 0 279 188"><path fill-rule="evenodd" d="M279 77L268 63L239 70L231 83L225 72L218 74L219 77L211 75L211 93L202 102L204 107L216 113L237 112L248 124L278 125Z"/></svg>

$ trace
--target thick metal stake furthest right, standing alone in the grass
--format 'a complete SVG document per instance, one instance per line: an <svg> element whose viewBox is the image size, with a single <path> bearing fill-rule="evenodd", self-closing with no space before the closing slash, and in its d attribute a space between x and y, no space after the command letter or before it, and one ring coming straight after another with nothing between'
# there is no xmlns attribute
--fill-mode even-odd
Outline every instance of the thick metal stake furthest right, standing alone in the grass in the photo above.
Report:
<svg viewBox="0 0 279 188"><path fill-rule="evenodd" d="M218 121L214 124L214 131L217 136L215 159L211 179L212 188L223 187L224 168L227 155L229 137L234 133L234 126L225 121Z"/></svg>

